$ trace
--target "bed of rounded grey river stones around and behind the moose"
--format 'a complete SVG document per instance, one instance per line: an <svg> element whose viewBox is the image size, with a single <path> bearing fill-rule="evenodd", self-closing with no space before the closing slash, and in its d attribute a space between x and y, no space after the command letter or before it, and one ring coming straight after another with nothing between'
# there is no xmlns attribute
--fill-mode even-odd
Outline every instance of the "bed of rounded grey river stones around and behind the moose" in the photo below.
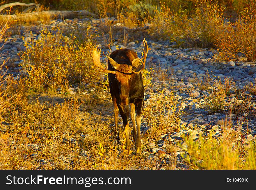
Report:
<svg viewBox="0 0 256 190"><path fill-rule="evenodd" d="M72 24L74 20L55 20L50 26L65 25L68 27ZM90 22L93 26L97 27L99 20L93 19ZM83 22L83 20L79 20ZM22 27L19 35L13 35L8 38L6 44L0 50L0 62L10 57L8 62L10 74L14 76L19 75L22 67L19 65L22 63L19 56L19 52L25 50L23 44L24 41L37 40L40 38L40 27L30 28L32 31L32 37L28 32L26 27ZM24 36L24 39L22 39ZM152 78L152 87L146 89L145 91L145 105L152 103L156 95L164 94L165 96L170 96L171 93L175 95L178 101L178 105L185 114L181 117L181 129L173 134L166 133L162 134L156 139L159 139L159 144L154 144L151 142L147 143L147 147L150 151L143 150L143 154L148 155L148 159L159 160L165 158L168 162L168 157L170 155L166 153L165 147L166 142L171 142L177 145L178 142L182 142L182 134L189 135L193 140L199 138L200 133L206 134L208 130L213 130L213 135L216 138L223 138L223 129L225 129L225 121L227 119L227 112L225 113L215 113L210 114L206 109L205 105L207 102L207 97L204 95L205 91L198 89L197 83L198 79L203 79L206 76L206 72L219 77L222 81L225 77L232 78L236 84L237 89L243 89L244 86L250 81L256 78L256 67L255 63L247 62L246 58L241 57L238 61L233 62L219 62L216 59L216 51L212 49L182 49L174 48L174 44L169 41L153 41L147 40L149 51L147 57L146 69L152 67L155 72ZM101 44L102 52L105 55L108 51L107 47L99 41ZM124 47L122 44L114 42L114 46L111 47L112 51L117 48ZM1 43L0 43L1 46ZM134 49L137 52L141 52L143 48L142 42L134 41L129 42L127 47ZM160 69L161 68L161 69ZM163 74L165 77L163 77ZM188 89L193 89L193 92L189 93ZM71 88L72 92L75 93L76 89ZM256 96L251 95L250 92L246 92L247 96L251 96L250 107L255 108ZM232 94L226 98L226 102L235 94ZM108 100L111 102L110 96ZM108 113L106 113L108 114ZM112 113L109 113L112 114ZM231 121L233 127L229 130L241 131L245 141L255 141L256 137L256 117L250 113L242 113L241 116L236 116L231 114ZM230 119L229 119L230 120ZM241 124L241 121L246 121ZM120 123L121 125L121 123ZM141 133L144 134L147 130L150 130L147 126L147 119L143 119L141 126ZM37 145L31 145L37 146ZM188 169L189 166L182 162L182 157L180 155L186 154L186 144L183 147L177 147L177 168ZM87 152L82 152L81 156L87 156ZM62 159L62 158L60 158ZM63 158L64 159L64 158ZM40 161L41 162L41 161ZM47 163L47 160L42 160L42 163ZM161 162L157 165L159 169L164 169L161 167ZM152 168L156 169L156 168Z"/></svg>

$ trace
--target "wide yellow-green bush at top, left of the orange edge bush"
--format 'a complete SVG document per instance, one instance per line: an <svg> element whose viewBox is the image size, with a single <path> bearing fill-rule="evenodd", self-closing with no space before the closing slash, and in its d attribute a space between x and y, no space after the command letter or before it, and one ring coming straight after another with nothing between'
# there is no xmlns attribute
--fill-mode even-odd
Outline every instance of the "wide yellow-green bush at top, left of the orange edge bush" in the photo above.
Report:
<svg viewBox="0 0 256 190"><path fill-rule="evenodd" d="M174 12L163 3L160 10L155 10L151 33L178 46L213 47L214 37L223 30L222 12L213 1L202 0L189 17L184 9Z"/></svg>

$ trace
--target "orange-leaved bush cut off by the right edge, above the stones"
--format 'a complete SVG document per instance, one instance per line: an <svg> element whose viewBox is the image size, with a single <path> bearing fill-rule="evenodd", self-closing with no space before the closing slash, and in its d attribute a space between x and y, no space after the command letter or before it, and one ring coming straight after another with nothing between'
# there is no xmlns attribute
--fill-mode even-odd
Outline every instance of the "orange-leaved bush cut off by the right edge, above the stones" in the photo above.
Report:
<svg viewBox="0 0 256 190"><path fill-rule="evenodd" d="M254 4L255 8L256 5ZM256 60L256 14L255 8L245 8L234 23L228 21L225 30L215 36L219 55L225 60L245 56Z"/></svg>

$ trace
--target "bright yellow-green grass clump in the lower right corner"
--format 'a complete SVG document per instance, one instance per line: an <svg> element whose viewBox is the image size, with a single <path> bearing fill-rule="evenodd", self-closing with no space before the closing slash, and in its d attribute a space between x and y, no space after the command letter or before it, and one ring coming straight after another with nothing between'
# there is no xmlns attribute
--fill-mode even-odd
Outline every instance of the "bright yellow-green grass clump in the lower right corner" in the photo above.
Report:
<svg viewBox="0 0 256 190"><path fill-rule="evenodd" d="M226 130L225 130L226 128ZM211 132L198 141L184 137L189 156L185 158L193 169L255 169L255 144L245 143L240 131L225 126L223 138Z"/></svg>

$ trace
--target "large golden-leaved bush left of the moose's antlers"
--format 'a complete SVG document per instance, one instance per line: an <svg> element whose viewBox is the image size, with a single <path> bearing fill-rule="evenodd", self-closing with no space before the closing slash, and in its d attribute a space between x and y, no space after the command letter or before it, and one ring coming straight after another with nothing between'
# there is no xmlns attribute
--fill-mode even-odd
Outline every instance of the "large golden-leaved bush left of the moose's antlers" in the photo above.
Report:
<svg viewBox="0 0 256 190"><path fill-rule="evenodd" d="M42 30L41 38L35 42L25 42L26 51L21 58L27 73L26 85L35 92L42 92L48 87L64 90L69 82L94 82L96 70L91 67L89 53L94 36L88 35L90 41L79 44L76 36L63 36L54 28L53 33Z"/></svg>

